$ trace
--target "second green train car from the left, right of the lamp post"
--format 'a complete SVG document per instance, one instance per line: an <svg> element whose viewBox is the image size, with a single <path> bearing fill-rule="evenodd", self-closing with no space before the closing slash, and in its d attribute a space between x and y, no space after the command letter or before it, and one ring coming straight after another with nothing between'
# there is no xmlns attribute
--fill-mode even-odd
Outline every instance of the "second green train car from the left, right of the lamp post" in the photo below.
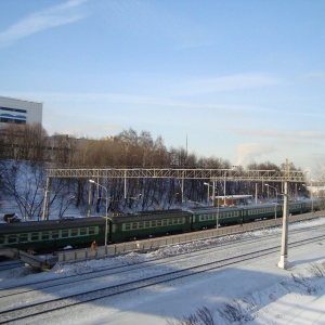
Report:
<svg viewBox="0 0 325 325"><path fill-rule="evenodd" d="M113 243L192 231L192 213L183 210L118 216L112 219Z"/></svg>

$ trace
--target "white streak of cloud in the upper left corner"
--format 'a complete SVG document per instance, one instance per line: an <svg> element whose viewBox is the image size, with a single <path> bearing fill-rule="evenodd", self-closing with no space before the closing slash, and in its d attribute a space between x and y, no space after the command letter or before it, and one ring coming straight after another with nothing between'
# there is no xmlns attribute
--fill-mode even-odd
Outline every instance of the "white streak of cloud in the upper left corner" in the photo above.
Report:
<svg viewBox="0 0 325 325"><path fill-rule="evenodd" d="M80 5L86 0L69 0L61 5L34 13L0 32L0 44L12 42L44 29L75 23L86 16Z"/></svg>

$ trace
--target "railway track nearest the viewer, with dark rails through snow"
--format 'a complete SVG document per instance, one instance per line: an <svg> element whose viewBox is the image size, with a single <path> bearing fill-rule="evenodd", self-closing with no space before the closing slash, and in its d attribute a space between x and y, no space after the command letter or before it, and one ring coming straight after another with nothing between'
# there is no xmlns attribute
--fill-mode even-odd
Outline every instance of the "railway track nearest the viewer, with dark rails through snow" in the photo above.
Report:
<svg viewBox="0 0 325 325"><path fill-rule="evenodd" d="M297 240L289 244L289 247L298 247L311 243L318 243L324 240L325 235L314 236L312 238L306 238L302 240ZM126 281L123 283L108 285L102 288L96 288L92 290L87 290L81 294L69 295L61 298L52 298L47 301L31 303L24 307L13 308L3 312L0 312L0 324L27 324L29 321L35 320L43 314L51 313L57 310L68 309L82 304L86 302L91 302L104 298L114 297L117 295L122 295L125 292L130 292L139 290L142 288L160 285L167 282L194 276L203 272L209 272L226 266L232 266L239 263L245 263L249 260L253 260L263 256L270 256L270 253L278 252L280 245L269 247L265 249L255 250L248 253L238 255L225 259L220 259L211 262L204 262L200 264L186 266L181 270L169 270L165 271L161 274L154 274L147 276L144 274L142 278L136 278L133 281Z"/></svg>

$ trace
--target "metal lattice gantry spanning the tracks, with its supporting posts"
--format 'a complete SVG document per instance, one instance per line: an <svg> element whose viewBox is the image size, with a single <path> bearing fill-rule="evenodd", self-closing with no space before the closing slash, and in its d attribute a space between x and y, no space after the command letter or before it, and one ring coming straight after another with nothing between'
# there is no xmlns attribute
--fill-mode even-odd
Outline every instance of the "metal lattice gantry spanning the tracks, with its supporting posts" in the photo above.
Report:
<svg viewBox="0 0 325 325"><path fill-rule="evenodd" d="M284 216L283 216L283 234L282 234L282 249L281 260L278 266L282 269L288 268L287 252L288 252L288 183L304 183L306 172L289 170L288 160L285 164L285 170L243 170L239 168L232 169L208 169L208 168L103 168L103 169L88 169L88 168L58 168L49 169L47 178L47 187L44 195L43 220L48 219L48 200L50 180L53 178L63 179L179 179L182 181L182 195L184 180L202 179L216 181L256 181L256 182L282 182L284 183ZM126 185L125 185L126 186ZM183 202L183 197L182 197Z"/></svg>

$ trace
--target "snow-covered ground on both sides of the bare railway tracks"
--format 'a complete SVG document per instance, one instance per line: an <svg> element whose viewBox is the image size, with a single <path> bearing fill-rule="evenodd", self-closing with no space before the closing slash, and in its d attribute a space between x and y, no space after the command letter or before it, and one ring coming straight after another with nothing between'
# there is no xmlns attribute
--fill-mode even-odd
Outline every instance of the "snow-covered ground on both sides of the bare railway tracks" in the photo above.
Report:
<svg viewBox="0 0 325 325"><path fill-rule="evenodd" d="M289 231L325 225L325 218L301 222L289 226ZM230 236L220 243L238 242L240 237L263 237L272 234L280 244L281 227ZM310 234L306 234L310 236ZM207 245L203 242L203 245ZM130 253L115 259L94 260L80 263L57 264L51 272L27 274L28 269L16 272L0 272L0 287L9 283L41 282L50 277L96 270L105 265L129 264L155 259L155 257L178 255L184 250L197 249L196 245L178 245L161 248L146 255ZM242 253L245 244L223 255L237 250ZM192 324L325 324L325 239L314 244L289 249L289 269L277 266L278 253L271 253L253 262L244 262L220 271L205 272L168 285L156 285L117 298L88 302L82 308L57 311L56 316L42 324L181 324L179 320L197 320ZM95 282L95 280L94 280ZM92 281L89 282L91 286ZM41 295L41 292L40 292ZM211 315L214 323L204 323L200 315ZM24 323L26 324L26 323ZM30 324L41 324L34 322ZM185 324L185 323L182 323Z"/></svg>

